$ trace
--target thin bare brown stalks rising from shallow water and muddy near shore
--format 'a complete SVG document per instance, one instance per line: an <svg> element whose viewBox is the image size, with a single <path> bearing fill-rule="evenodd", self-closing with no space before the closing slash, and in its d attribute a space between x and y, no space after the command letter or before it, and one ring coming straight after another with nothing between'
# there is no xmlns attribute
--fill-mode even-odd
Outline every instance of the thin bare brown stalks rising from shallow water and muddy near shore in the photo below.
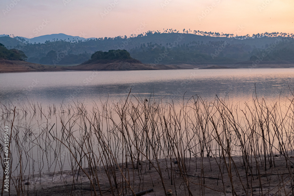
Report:
<svg viewBox="0 0 294 196"><path fill-rule="evenodd" d="M46 172L63 195L294 195L293 98L0 105L1 160L4 125L11 130L10 195L48 191Z"/></svg>

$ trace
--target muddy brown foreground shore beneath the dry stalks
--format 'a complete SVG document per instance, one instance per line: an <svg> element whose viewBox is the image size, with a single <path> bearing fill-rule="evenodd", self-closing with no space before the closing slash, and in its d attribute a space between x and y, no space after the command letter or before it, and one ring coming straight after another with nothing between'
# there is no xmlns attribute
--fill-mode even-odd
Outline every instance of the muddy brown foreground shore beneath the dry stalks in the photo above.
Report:
<svg viewBox="0 0 294 196"><path fill-rule="evenodd" d="M255 158L250 158L250 163L244 166L242 157L233 157L236 168L231 161L231 173L235 193L238 195L292 195L293 194L293 167L294 158L289 155L288 168L286 167L285 157L283 155L276 155L272 157L273 167L267 163L267 170L264 167L264 159L258 158L258 165L255 163ZM91 176L91 179L99 180L99 186L95 186L96 194L100 195L100 190L103 195L131 195L131 190L128 183L134 192L142 190L153 189L145 195L165 195L164 191L172 190L173 195L189 195L188 188L192 195L232 195L232 183L230 175L228 175L227 167L224 160L218 157L205 158L188 158L185 159L186 172L185 176L180 175L183 163L175 164L176 159L160 159L158 160L163 183L158 172L156 160L152 160L149 170L149 161L142 162L138 168L133 168L131 163L128 167L125 164L120 164L123 172L123 177L119 169L115 170L118 189L115 187L113 178L112 190L109 184L108 177L110 170L106 173L104 167L99 167L97 176ZM228 158L226 160L229 166ZM268 162L268 160L267 160ZM109 168L108 168L109 169ZM85 169L88 170L88 169ZM291 175L290 175L291 174ZM93 180L93 182L95 182ZM96 181L97 182L97 181ZM243 185L242 185L242 183ZM91 188L88 177L80 170L76 172L48 172L24 176L23 187L28 195L95 195L93 188ZM24 183L29 185L24 185ZM292 185L291 185L292 183ZM260 187L262 185L262 187ZM244 188L246 192L244 191ZM124 190L124 193L118 190ZM11 185L10 194L16 195L16 188Z"/></svg>

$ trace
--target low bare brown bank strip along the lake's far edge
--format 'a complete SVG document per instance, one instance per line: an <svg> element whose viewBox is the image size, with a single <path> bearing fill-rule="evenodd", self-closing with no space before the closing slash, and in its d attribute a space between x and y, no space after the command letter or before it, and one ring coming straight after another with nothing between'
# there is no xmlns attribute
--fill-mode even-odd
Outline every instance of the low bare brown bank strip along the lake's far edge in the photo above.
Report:
<svg viewBox="0 0 294 196"><path fill-rule="evenodd" d="M294 64L260 63L253 66L249 63L236 63L232 65L156 65L128 62L111 62L96 64L80 64L77 66L54 66L29 63L26 61L11 61L0 59L0 73L13 72L44 72L44 71L142 71L142 70L177 70L177 69L258 69L258 68L294 68Z"/></svg>

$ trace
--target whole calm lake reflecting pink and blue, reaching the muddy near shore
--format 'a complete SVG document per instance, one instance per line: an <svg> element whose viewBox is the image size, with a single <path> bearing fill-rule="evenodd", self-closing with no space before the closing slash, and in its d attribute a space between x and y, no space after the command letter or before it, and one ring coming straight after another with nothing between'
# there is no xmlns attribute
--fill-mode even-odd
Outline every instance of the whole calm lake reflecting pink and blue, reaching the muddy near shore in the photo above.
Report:
<svg viewBox="0 0 294 196"><path fill-rule="evenodd" d="M100 158L101 154L99 154L106 143L110 147L104 150L113 153L116 161L120 162L123 160L123 150L126 149L124 140L121 138L126 137L123 132L129 130L132 131L127 134L128 140L136 141L136 144L141 142L139 147L130 144L129 148L135 151L138 148L142 148L141 152L148 150L147 142L144 143L148 137L151 138L150 143L153 145L160 143L162 146L167 146L169 142L166 141L165 136L171 134L173 139L176 138L176 141L186 145L184 149L188 149L185 151L187 156L199 157L209 153L217 155L219 152L217 149L220 147L216 145L214 139L216 135L212 136L215 134L212 121L205 120L208 119L205 116L212 115L212 118L209 119L216 120L217 127L220 128L220 135L223 138L228 136L231 139L232 154L240 155L240 151L242 151L240 141L234 133L235 129L231 128L235 124L232 121L222 122L219 118L220 115L225 115L225 118L229 119L229 116L226 116L229 113L223 112L229 108L218 103L208 103L206 104L208 110L213 112L207 113L206 110L199 112L198 109L201 109L203 105L191 102L184 109L182 107L183 101L186 103L192 96L195 99L197 96L201 96L203 100L214 101L217 95L218 98L225 99L225 102L229 104L238 105L240 109L240 107L246 107L243 104L245 102L252 106L252 100L256 97L256 88L259 102L262 98L267 105L278 102L282 110L276 106L274 110L270 108L269 110L271 114L278 112L278 118L280 118L284 115L284 110L287 110L287 107L284 107L287 105L285 103L290 102L287 101L287 98L293 98L290 91L291 89L293 92L293 76L294 69L290 68L1 73L0 130L2 140L0 142L4 143L4 125L11 127L11 121L14 119L11 111L16 106L15 130L12 133L13 139L11 141L11 149L14 150L11 150L13 152L11 156L14 157L14 160L22 160L23 165L28 164L29 169L26 168L24 171L16 169L14 173L28 174L32 172L31 168L36 167L34 163L38 163L39 169L36 168L38 172L51 171L52 168L55 170L56 165L57 170L72 169L73 164L77 167L73 155L83 157L82 154L85 152L81 151L89 145L83 143L85 138L88 138L88 142L91 141L93 153L99 155L97 163L109 161L107 158ZM134 105L127 104L124 109L124 103L120 100L125 100L128 97L130 89L129 100L134 100ZM141 102L136 101L137 99L141 99ZM145 99L149 100L148 104L150 105L146 104ZM154 100L164 104L154 104ZM101 105L106 101L112 105L102 109ZM118 102L120 103L117 104ZM82 107L80 103L83 103ZM174 105L166 103L174 103ZM291 104L292 107L293 103ZM218 110L219 108L222 110ZM255 109L253 108L253 110ZM263 110L264 113L267 109L262 106L256 110ZM123 111L123 117L119 116L120 111ZM235 120L244 138L250 138L246 142L248 142L248 146L252 147L253 142L261 143L260 135L263 129L258 128L259 124L256 123L259 122L259 116L256 116L258 113L250 113L248 108L246 111L248 119L254 118L256 120L253 124L246 122L247 118L240 116ZM241 115L243 113L241 110L235 112ZM292 114L293 112L289 111L285 121L293 120ZM136 118L134 118L135 116ZM125 127L120 117L126 120ZM271 118L261 119L261 122L272 123L274 125L270 126L272 129L278 122L275 119L275 115L273 115ZM163 123L165 120L169 123L170 128L173 127L171 132L167 132L168 127ZM201 123L205 124L204 132L201 130ZM286 135L286 142L290 146L287 149L292 148L293 141L288 139L293 138L292 125L289 123L280 127L283 127L281 134ZM248 130L253 129L255 130L254 137L247 135L250 133ZM284 132L285 130L289 133ZM182 131L187 134L183 135ZM272 148L275 146L275 150L277 150L280 142L277 135L273 134L275 131L274 128L268 130L267 137L272 141L270 143ZM96 138L95 134L99 136ZM226 134L228 135L225 136ZM145 137L145 139L141 140L140 137ZM206 138L211 139L207 141ZM103 140L102 144L101 139ZM207 142L209 145L205 145L204 148L204 144ZM21 148L20 151L16 150L18 146ZM72 148L70 146L74 146L72 149L74 154L70 153L69 149ZM260 147L258 150L262 150L262 148ZM168 148L160 146L157 153L152 156L161 158L170 156L166 153L170 153ZM257 153L262 152L258 151ZM88 154L86 153L86 155ZM150 152L149 156L151 157ZM105 157L105 155L101 155L101 157ZM11 164L13 167L19 168L17 161ZM88 160L84 158L83 166L87 164Z"/></svg>

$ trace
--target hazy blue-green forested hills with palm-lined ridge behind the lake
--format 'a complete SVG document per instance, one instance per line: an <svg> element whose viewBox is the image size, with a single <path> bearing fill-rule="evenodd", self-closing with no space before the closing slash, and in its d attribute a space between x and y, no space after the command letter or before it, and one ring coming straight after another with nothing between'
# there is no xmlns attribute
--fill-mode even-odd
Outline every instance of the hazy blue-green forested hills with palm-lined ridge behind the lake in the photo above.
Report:
<svg viewBox="0 0 294 196"><path fill-rule="evenodd" d="M126 50L143 63L155 64L234 64L294 63L294 38L289 33L257 33L253 36L234 36L217 32L173 29L148 31L138 35L96 38L86 41L21 42L6 36L4 41L24 51L28 61L41 64L78 64L91 58L96 51ZM2 37L0 37L2 41ZM16 45L15 41L18 42ZM96 53L98 55L98 53ZM103 56L102 55L102 56Z"/></svg>

